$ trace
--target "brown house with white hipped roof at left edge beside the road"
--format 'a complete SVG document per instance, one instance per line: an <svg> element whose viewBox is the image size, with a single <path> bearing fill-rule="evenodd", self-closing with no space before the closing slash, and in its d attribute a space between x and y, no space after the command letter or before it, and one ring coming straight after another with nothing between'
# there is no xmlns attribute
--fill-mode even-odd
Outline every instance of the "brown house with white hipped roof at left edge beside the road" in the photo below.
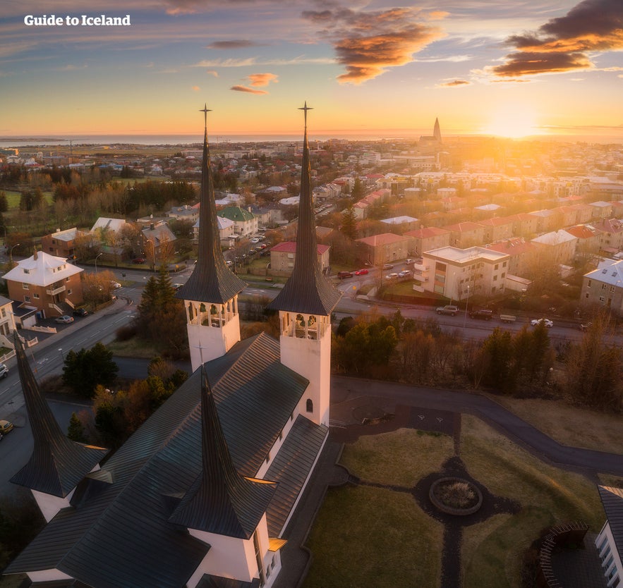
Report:
<svg viewBox="0 0 623 588"><path fill-rule="evenodd" d="M4 274L8 297L36 309L41 318L71 314L83 301L80 274L84 270L44 251L35 251L28 259Z"/></svg>

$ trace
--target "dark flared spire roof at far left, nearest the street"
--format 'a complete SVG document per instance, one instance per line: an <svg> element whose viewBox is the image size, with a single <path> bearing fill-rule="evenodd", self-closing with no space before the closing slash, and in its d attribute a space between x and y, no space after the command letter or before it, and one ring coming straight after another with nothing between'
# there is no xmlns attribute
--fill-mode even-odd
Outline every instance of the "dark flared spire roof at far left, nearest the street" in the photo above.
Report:
<svg viewBox="0 0 623 588"><path fill-rule="evenodd" d="M11 478L11 482L44 494L67 496L108 450L67 439L41 394L17 332L13 341L34 448L28 463Z"/></svg>

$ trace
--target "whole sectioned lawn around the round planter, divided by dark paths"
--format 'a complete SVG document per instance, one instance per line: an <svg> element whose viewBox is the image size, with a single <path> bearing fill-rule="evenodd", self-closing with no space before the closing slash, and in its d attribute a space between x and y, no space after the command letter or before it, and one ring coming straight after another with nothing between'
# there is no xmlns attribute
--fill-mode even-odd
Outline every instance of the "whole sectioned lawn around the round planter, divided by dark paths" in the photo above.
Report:
<svg viewBox="0 0 623 588"><path fill-rule="evenodd" d="M362 481L410 488L439 471L450 455L449 436L399 429L347 444L341 464ZM493 494L521 504L516 515L495 515L464 528L465 588L519 588L521 558L542 529L583 520L598 532L603 524L595 484L545 465L476 417L463 417L461 458ZM403 491L330 489L308 540L313 563L304 588L435 587L442 531Z"/></svg>

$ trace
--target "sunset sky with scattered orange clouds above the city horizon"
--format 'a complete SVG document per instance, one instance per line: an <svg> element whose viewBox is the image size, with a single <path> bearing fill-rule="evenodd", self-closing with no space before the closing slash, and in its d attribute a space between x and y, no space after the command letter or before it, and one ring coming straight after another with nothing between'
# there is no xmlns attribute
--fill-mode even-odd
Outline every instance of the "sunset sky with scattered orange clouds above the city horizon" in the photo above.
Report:
<svg viewBox="0 0 623 588"><path fill-rule="evenodd" d="M310 135L623 137L623 1L0 3L1 137L296 135L304 102Z"/></svg>

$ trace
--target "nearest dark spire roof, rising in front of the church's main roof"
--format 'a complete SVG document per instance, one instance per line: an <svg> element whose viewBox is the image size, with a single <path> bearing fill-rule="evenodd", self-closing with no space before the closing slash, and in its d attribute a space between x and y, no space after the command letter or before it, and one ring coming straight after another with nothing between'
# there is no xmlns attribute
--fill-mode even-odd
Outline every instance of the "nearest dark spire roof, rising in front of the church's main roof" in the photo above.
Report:
<svg viewBox="0 0 623 588"><path fill-rule="evenodd" d="M238 474L203 365L201 381L202 472L169 521L189 529L249 539L277 484Z"/></svg>

